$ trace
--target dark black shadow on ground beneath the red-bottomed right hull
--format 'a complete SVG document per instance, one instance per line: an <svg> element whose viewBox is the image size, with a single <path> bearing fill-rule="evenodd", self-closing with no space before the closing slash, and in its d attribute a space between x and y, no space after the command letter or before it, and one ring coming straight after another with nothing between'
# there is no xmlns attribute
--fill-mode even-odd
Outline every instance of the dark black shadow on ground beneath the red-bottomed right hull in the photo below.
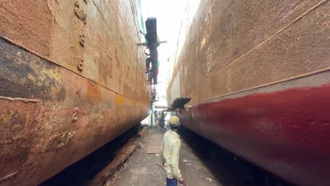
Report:
<svg viewBox="0 0 330 186"><path fill-rule="evenodd" d="M187 128L179 132L223 186L293 186Z"/></svg>

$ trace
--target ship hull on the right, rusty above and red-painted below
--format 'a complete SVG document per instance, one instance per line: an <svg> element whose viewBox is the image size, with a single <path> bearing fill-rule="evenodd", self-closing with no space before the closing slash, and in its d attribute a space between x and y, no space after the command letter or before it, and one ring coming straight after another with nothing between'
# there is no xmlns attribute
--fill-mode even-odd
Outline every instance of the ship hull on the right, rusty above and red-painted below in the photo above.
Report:
<svg viewBox="0 0 330 186"><path fill-rule="evenodd" d="M167 90L193 98L181 123L294 185L329 185L330 1L190 6Z"/></svg>

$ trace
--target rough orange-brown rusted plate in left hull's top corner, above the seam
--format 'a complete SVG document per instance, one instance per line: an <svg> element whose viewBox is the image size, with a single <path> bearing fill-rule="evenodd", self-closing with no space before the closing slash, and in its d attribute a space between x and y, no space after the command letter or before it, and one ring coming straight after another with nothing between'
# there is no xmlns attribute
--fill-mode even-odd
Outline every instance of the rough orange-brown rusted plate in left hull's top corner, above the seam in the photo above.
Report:
<svg viewBox="0 0 330 186"><path fill-rule="evenodd" d="M51 12L47 1L1 1L0 14L0 35L49 56Z"/></svg>

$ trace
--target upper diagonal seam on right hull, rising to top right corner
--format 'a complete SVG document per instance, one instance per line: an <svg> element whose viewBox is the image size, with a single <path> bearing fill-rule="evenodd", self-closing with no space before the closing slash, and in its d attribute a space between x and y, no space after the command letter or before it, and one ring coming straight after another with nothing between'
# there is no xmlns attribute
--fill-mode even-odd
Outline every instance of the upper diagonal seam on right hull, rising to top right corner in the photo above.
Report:
<svg viewBox="0 0 330 186"><path fill-rule="evenodd" d="M238 60L240 60L240 58L243 58L244 56L246 56L247 54L250 54L252 51L255 51L255 49L259 48L259 46L262 46L262 44L268 42L270 39L272 39L273 37L275 37L276 35L278 35L280 32L282 32L283 30L285 30L287 27L289 27L290 25L292 25L293 23L295 23L296 21L300 20L302 17L306 16L307 13L310 13L311 11L313 11L315 8L321 6L322 4L324 4L326 1L329 0L323 0L321 2L319 2L318 4L314 5L312 8L310 8L308 11L305 11L304 13L302 13L302 15L298 16L298 18L295 18L295 20L291 21L291 23L288 23L288 25L282 27L279 31L277 31L274 35L271 35L269 38L267 38L266 40L264 40L263 42L261 42L260 44L258 44L257 46L255 46L253 49L250 49L250 51L247 51L245 54L243 54L242 56L240 56L239 58L236 58L234 61L232 61L231 63L229 63L227 66L224 66L224 68L221 68L221 70L217 71L216 73L214 73L213 75L207 77L205 80L202 80L202 82L200 82L200 84L198 84L197 86L195 86L193 89L191 89L189 91L193 92L194 89L196 89L198 86L202 85L203 82L209 80L211 77L214 77L214 75L217 75L219 73L221 73L221 71L225 70L226 68L228 68L229 66L232 66L233 63L236 63Z"/></svg>

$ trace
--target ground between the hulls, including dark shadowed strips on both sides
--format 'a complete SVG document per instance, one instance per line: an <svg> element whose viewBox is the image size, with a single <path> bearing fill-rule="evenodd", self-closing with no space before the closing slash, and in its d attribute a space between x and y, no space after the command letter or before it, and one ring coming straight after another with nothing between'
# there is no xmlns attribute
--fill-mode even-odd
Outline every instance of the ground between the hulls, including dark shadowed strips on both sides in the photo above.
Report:
<svg viewBox="0 0 330 186"><path fill-rule="evenodd" d="M42 186L87 185L92 176L114 158L112 156L114 151L125 144L129 137L135 135L136 131L137 128L133 128L126 132L114 142L42 183ZM190 130L181 128L180 132L182 139L180 168L189 186L289 185ZM142 144L141 149L136 149L126 161L125 171L115 174L114 183L111 185L166 185L164 171L157 166L159 155L146 154L150 137L154 133L159 131L149 128L145 132L139 140Z"/></svg>

